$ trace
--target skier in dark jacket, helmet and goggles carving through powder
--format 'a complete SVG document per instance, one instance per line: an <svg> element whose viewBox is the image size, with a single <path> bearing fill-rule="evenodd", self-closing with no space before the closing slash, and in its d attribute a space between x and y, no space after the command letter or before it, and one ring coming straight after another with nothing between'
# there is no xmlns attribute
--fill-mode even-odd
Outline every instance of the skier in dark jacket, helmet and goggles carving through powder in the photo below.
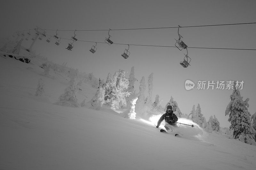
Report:
<svg viewBox="0 0 256 170"><path fill-rule="evenodd" d="M167 106L166 113L160 117L159 121L157 122L156 128L160 126L163 120L165 120L164 128L166 130L178 127L177 123L175 123L178 121L178 117L173 113L172 106Z"/></svg>

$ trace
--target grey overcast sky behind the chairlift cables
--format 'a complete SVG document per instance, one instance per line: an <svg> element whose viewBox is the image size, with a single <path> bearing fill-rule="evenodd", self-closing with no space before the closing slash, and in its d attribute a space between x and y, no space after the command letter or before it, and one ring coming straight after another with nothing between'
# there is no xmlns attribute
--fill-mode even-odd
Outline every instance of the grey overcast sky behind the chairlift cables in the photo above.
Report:
<svg viewBox="0 0 256 170"><path fill-rule="evenodd" d="M256 1L3 1L1 3L0 36L11 35L15 31L33 29L39 26L52 30L127 29L172 26L198 26L255 22ZM180 34L188 47L210 48L255 48L256 24L188 27L180 28ZM32 32L32 31L31 31ZM34 33L34 32L33 32ZM55 31L46 31L53 35ZM74 31L59 31L59 36L70 38ZM108 31L76 31L78 40L103 42ZM31 34L32 35L32 34ZM178 38L177 28L150 30L110 31L112 41L121 44L142 44L174 46ZM197 84L205 81L244 81L241 95L249 100L249 111L256 112L255 63L256 51L197 49L188 48L191 66L183 68L186 51L167 47L130 46L128 59L121 57L127 45L98 43L97 52L89 49L94 43L75 42L73 51L67 51L70 41L62 39L60 45L47 43L44 38L37 40L34 49L55 63L67 62L68 66L81 72L93 72L94 76L106 79L108 72L126 71L135 67L136 91L145 76L146 82L154 73L153 100L156 94L163 99L163 106L173 96L181 112L189 113L193 105L200 104L202 113L208 120L216 115L222 127L229 126L225 109L232 90L187 91L187 79ZM29 47L30 40L23 43ZM129 72L126 76L129 76ZM216 87L216 86L215 86ZM147 96L148 89L145 95Z"/></svg>

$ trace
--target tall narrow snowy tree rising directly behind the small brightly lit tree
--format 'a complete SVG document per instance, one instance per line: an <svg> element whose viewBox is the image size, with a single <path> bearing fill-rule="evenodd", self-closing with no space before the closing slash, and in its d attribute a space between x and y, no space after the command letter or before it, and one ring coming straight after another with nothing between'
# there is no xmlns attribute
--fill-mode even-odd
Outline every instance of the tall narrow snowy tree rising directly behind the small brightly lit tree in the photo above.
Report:
<svg viewBox="0 0 256 170"><path fill-rule="evenodd" d="M134 66L132 66L128 80L129 80L129 86L128 86L127 92L130 92L130 95L128 97L126 97L125 99L128 103L127 107L130 108L131 107L130 104L132 103L132 100L134 98L136 98L136 92L134 90L134 83L135 83L135 81L138 81L138 79L135 78L135 76L134 76Z"/></svg>

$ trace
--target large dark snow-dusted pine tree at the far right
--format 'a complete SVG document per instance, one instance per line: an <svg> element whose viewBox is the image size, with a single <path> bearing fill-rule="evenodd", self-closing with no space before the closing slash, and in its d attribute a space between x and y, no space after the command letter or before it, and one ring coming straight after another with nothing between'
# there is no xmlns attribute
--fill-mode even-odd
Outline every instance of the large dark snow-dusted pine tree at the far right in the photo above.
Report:
<svg viewBox="0 0 256 170"><path fill-rule="evenodd" d="M252 128L250 117L251 114L248 111L249 98L243 101L238 89L234 88L230 95L231 101L229 102L225 116L229 115L228 122L231 123L229 129L233 129L233 138L239 139L240 141L253 144L255 143L255 129Z"/></svg>

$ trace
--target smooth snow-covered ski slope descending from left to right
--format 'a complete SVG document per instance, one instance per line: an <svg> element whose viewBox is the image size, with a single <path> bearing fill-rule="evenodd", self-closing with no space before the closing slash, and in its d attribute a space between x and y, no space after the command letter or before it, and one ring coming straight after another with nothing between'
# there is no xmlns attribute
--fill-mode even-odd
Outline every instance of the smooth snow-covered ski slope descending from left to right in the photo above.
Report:
<svg viewBox="0 0 256 170"><path fill-rule="evenodd" d="M1 170L256 167L256 147L225 136L174 137L160 133L154 121L124 119L111 109L54 105L69 78L53 70L45 77L35 63L40 63L36 57L27 64L0 56ZM35 96L39 78L45 81L41 97ZM79 88L79 102L85 96L88 102L96 92L86 84Z"/></svg>

